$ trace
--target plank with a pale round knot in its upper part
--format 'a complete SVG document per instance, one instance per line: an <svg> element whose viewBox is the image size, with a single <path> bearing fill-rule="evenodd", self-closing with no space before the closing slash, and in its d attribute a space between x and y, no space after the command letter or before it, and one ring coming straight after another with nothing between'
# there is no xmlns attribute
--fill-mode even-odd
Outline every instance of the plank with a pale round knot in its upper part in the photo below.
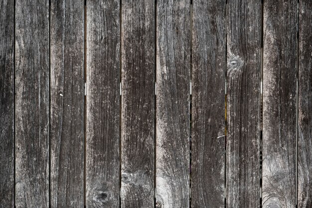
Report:
<svg viewBox="0 0 312 208"><path fill-rule="evenodd" d="M226 206L260 207L261 1L227 7Z"/></svg>

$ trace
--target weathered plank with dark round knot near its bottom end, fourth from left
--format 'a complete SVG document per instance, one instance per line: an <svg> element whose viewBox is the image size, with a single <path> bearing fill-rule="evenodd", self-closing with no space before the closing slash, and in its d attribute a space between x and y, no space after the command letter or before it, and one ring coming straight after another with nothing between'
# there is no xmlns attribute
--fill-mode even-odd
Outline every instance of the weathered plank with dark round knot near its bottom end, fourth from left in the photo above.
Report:
<svg viewBox="0 0 312 208"><path fill-rule="evenodd" d="M120 204L119 22L119 0L87 1L87 208Z"/></svg>

